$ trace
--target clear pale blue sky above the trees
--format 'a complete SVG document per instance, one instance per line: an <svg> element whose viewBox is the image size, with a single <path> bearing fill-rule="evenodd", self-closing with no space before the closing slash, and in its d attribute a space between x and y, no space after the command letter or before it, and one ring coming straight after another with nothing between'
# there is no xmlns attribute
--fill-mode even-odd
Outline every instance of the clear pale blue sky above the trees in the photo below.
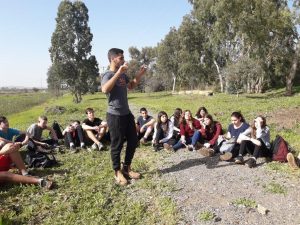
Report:
<svg viewBox="0 0 300 225"><path fill-rule="evenodd" d="M0 0L0 87L47 87L49 47L60 0ZM83 0L100 72L107 51L156 46L190 13L188 0Z"/></svg>

